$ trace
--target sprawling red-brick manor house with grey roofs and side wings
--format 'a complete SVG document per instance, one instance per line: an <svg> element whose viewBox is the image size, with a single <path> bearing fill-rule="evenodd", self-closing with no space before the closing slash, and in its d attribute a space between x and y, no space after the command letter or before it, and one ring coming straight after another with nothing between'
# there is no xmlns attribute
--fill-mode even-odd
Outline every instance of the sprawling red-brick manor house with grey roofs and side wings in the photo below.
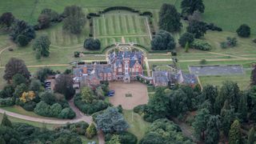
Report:
<svg viewBox="0 0 256 144"><path fill-rule="evenodd" d="M194 74L184 74L181 70L153 71L152 77L143 74L144 54L141 51L114 51L108 54L107 63L93 63L74 67L74 87L98 86L102 81L130 82L142 78L154 86L169 86L174 83L194 86L198 82Z"/></svg>

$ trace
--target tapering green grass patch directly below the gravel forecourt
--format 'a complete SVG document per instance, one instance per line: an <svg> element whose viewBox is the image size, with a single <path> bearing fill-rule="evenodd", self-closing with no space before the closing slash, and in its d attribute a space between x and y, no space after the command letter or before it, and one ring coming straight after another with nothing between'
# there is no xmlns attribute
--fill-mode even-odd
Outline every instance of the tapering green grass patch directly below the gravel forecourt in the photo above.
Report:
<svg viewBox="0 0 256 144"><path fill-rule="evenodd" d="M147 128L150 126L150 122L145 122L142 117L133 112L133 110L123 110L124 117L129 123L128 131L135 134L138 140L142 139Z"/></svg>

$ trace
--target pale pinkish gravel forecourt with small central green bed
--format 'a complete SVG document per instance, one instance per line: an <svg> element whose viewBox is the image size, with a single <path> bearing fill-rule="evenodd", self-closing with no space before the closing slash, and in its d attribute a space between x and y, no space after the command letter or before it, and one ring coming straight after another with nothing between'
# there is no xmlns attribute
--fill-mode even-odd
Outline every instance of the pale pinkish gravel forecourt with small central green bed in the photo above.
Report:
<svg viewBox="0 0 256 144"><path fill-rule="evenodd" d="M140 82L110 82L110 90L115 91L114 96L110 97L110 103L114 106L122 105L125 110L146 104L149 99L146 85Z"/></svg>

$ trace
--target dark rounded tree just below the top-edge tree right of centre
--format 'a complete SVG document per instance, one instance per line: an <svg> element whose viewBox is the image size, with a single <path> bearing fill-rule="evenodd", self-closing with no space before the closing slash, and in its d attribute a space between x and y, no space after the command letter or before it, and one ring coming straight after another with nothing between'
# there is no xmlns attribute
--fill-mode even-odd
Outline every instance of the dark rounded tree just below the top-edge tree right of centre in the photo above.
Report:
<svg viewBox="0 0 256 144"><path fill-rule="evenodd" d="M186 27L186 31L194 34L194 38L201 38L206 34L206 22L191 21L190 25Z"/></svg>

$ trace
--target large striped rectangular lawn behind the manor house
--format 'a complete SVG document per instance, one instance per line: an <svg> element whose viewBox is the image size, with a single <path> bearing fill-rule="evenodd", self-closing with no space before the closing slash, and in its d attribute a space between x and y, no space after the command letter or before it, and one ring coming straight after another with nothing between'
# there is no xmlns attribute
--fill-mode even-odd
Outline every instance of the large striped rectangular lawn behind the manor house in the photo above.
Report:
<svg viewBox="0 0 256 144"><path fill-rule="evenodd" d="M150 47L150 36L146 17L126 11L115 11L94 18L95 38L99 38L102 47L114 42L134 42Z"/></svg>

